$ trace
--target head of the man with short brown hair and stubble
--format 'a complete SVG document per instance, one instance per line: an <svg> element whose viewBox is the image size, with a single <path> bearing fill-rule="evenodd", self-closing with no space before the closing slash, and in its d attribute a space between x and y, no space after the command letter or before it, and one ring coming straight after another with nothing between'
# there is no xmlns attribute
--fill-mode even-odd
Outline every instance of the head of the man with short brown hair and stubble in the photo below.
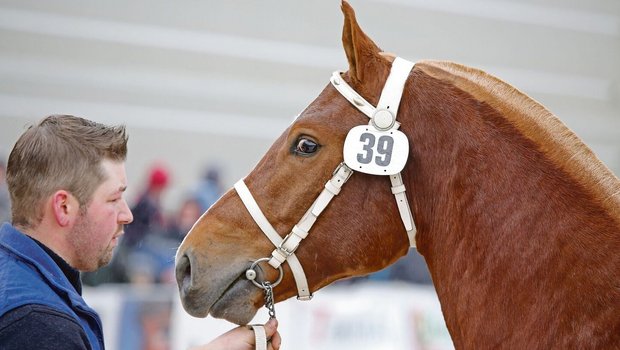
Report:
<svg viewBox="0 0 620 350"><path fill-rule="evenodd" d="M7 166L13 225L71 266L92 271L112 258L133 220L127 188L127 135L74 116L49 116L17 140Z"/></svg>

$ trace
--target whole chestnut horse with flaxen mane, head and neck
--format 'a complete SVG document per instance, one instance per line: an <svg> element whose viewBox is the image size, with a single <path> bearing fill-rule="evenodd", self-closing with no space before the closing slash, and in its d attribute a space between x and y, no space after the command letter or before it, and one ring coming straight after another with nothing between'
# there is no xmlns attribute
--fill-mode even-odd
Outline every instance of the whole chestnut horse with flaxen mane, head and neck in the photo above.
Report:
<svg viewBox="0 0 620 350"><path fill-rule="evenodd" d="M349 70L341 78L376 106L395 58L362 32L348 3L342 9ZM414 243L456 348L620 348L618 178L549 111L495 77L422 61L406 78L397 116L409 140L402 181ZM328 84L244 179L280 238L307 215L359 125L368 118ZM310 291L407 253L388 178L354 172L316 219L294 252ZM191 315L244 324L264 302L246 270L274 247L240 188L178 250ZM299 293L287 262L276 302ZM260 265L265 281L279 277Z"/></svg>

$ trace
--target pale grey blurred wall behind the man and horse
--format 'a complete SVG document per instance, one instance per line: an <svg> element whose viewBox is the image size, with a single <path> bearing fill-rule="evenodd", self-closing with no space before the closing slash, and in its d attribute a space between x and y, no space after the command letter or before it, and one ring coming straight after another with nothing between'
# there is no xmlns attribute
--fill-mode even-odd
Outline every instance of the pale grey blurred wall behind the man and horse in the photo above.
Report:
<svg viewBox="0 0 620 350"><path fill-rule="evenodd" d="M483 68L546 105L620 172L620 2L352 0L384 50ZM205 164L244 176L346 69L339 1L2 0L0 154L27 122L77 114L130 131L130 197Z"/></svg>

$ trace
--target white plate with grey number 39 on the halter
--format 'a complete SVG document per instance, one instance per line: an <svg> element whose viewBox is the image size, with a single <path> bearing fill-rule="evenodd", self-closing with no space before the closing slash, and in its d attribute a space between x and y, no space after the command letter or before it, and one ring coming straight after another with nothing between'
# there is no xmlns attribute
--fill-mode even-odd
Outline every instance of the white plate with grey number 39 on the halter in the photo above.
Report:
<svg viewBox="0 0 620 350"><path fill-rule="evenodd" d="M370 125L356 126L344 141L344 162L356 171L394 175L407 163L409 141L398 130L379 131Z"/></svg>

